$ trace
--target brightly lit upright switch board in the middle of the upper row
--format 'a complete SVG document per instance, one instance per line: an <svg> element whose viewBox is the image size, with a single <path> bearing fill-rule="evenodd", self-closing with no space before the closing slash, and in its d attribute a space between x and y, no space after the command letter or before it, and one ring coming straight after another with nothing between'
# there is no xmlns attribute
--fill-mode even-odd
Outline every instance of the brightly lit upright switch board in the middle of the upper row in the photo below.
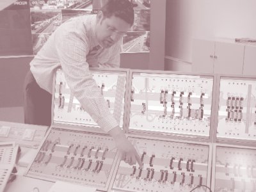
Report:
<svg viewBox="0 0 256 192"><path fill-rule="evenodd" d="M213 81L134 72L129 129L209 137Z"/></svg>

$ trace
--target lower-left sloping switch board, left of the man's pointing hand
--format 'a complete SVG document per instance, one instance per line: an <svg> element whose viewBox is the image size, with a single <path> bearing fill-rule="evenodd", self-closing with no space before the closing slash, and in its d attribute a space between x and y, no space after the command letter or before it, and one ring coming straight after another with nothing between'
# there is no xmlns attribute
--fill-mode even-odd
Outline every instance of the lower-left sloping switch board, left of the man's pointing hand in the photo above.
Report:
<svg viewBox="0 0 256 192"><path fill-rule="evenodd" d="M52 127L26 175L107 190L116 152L110 136Z"/></svg>

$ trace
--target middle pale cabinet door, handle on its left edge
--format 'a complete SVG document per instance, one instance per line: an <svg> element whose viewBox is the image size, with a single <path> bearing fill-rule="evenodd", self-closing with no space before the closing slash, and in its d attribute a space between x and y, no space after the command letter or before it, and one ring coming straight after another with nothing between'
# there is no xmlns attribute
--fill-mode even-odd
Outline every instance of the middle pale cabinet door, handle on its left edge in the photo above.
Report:
<svg viewBox="0 0 256 192"><path fill-rule="evenodd" d="M214 73L243 74L244 45L215 42Z"/></svg>

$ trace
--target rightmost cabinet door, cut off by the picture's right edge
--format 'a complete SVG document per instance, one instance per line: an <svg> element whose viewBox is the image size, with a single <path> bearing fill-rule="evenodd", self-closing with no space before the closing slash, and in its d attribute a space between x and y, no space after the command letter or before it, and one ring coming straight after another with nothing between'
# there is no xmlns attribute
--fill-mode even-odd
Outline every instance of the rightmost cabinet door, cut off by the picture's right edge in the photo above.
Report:
<svg viewBox="0 0 256 192"><path fill-rule="evenodd" d="M243 74L256 76L256 46L255 45L245 46Z"/></svg>

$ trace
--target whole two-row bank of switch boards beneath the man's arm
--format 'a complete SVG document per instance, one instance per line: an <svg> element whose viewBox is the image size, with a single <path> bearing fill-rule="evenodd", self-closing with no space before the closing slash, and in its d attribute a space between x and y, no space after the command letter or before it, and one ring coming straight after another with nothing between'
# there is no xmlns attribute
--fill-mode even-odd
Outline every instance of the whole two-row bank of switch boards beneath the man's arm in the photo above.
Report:
<svg viewBox="0 0 256 192"><path fill-rule="evenodd" d="M53 124L26 176L100 191L208 191L210 185L212 191L256 191L256 148L238 146L256 139L256 79L148 70L92 70L92 76L143 167L121 161L111 136L90 129L99 126L57 70ZM0 137L12 132L4 125ZM26 141L35 136L20 134ZM214 137L239 143L216 146Z"/></svg>

